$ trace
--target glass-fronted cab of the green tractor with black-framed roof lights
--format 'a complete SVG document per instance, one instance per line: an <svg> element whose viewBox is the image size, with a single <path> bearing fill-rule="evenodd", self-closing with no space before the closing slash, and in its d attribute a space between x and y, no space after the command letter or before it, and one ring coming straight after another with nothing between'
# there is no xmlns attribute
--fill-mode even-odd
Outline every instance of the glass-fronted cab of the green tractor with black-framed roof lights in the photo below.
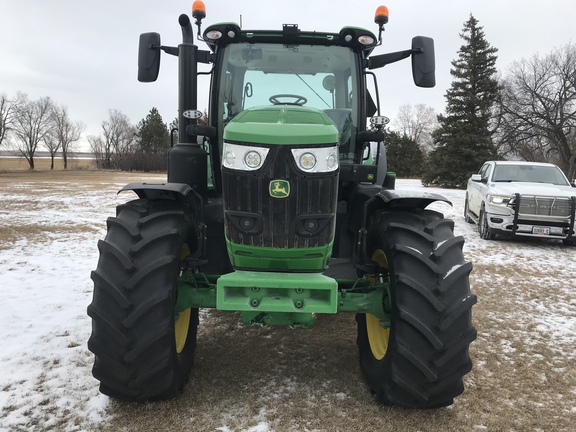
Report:
<svg viewBox="0 0 576 432"><path fill-rule="evenodd" d="M346 42L349 33L358 32L367 45ZM375 111L366 113L361 96L366 94L363 62L376 42L372 33L311 33L296 25L284 25L282 31L242 31L235 24L216 24L203 39L216 56L210 113L220 142L226 125L245 110L302 107L291 110L299 113L299 122L313 124L324 114L334 124L341 163L361 162L357 132ZM262 111L263 121L266 112L270 110Z"/></svg>

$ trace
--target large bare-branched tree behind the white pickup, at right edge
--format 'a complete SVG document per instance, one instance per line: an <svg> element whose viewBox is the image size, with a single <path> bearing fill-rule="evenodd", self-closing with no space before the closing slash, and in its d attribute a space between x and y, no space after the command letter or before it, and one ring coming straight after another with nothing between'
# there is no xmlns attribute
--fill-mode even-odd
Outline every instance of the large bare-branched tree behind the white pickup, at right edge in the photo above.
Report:
<svg viewBox="0 0 576 432"><path fill-rule="evenodd" d="M515 62L502 82L501 152L576 175L576 45Z"/></svg>

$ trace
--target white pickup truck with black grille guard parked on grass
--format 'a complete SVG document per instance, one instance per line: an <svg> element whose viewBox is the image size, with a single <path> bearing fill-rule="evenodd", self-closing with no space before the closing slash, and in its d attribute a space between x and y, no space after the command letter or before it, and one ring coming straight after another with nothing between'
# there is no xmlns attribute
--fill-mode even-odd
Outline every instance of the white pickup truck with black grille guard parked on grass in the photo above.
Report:
<svg viewBox="0 0 576 432"><path fill-rule="evenodd" d="M488 161L468 180L464 218L483 239L530 236L576 244L576 185L554 164Z"/></svg>

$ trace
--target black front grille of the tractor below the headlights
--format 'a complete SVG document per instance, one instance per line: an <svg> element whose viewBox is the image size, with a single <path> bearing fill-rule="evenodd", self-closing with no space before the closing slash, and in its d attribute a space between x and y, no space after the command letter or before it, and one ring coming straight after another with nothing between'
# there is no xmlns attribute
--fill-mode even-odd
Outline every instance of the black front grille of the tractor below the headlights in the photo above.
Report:
<svg viewBox="0 0 576 432"><path fill-rule="evenodd" d="M223 169L226 235L230 241L270 248L315 247L332 241L338 172L301 172L293 160L291 148L272 146L265 165L258 171ZM288 197L271 196L270 185L273 180L289 182ZM261 232L243 233L238 229L238 224L231 223L228 215L233 212L259 215ZM298 229L298 225L307 220L307 215L320 218L320 228L313 234L303 234L302 229Z"/></svg>

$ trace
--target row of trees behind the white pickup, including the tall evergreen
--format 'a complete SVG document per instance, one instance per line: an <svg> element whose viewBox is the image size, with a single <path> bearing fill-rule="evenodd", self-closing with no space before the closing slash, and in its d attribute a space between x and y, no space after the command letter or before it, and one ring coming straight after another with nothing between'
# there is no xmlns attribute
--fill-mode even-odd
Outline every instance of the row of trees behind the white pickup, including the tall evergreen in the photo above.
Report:
<svg viewBox="0 0 576 432"><path fill-rule="evenodd" d="M387 134L389 169L456 188L490 159L552 162L576 177L576 45L516 61L501 75L474 16L460 36L445 114L401 107Z"/></svg>

